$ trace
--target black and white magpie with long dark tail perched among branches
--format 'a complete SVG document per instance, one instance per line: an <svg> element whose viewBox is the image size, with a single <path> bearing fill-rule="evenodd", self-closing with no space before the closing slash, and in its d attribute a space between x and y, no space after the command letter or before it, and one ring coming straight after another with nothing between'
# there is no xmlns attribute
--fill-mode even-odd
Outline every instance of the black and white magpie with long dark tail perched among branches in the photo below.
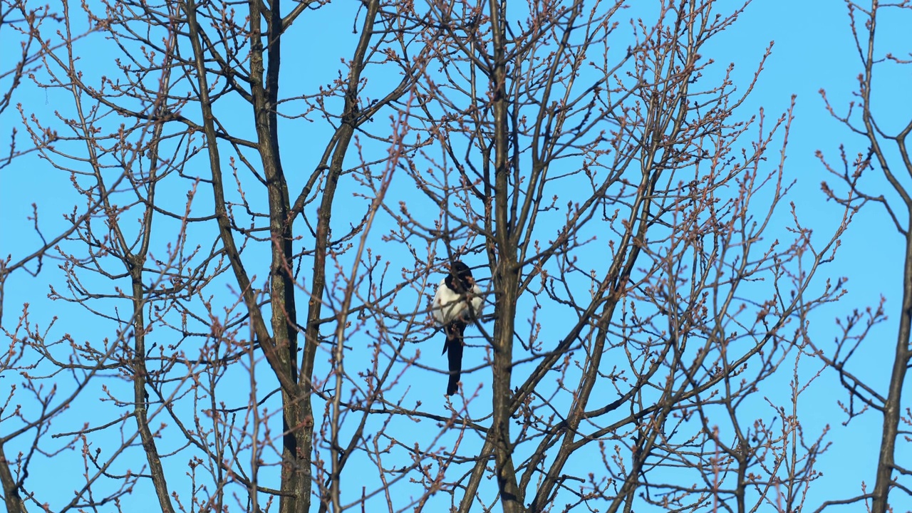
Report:
<svg viewBox="0 0 912 513"><path fill-rule="evenodd" d="M460 372L462 372L462 333L467 324L482 315L482 289L475 284L472 269L459 260L453 261L450 274L440 281L437 294L434 296L431 315L443 326L447 341L443 352L448 352L450 361L450 382L447 384L447 395L459 390ZM442 354L442 353L441 353Z"/></svg>

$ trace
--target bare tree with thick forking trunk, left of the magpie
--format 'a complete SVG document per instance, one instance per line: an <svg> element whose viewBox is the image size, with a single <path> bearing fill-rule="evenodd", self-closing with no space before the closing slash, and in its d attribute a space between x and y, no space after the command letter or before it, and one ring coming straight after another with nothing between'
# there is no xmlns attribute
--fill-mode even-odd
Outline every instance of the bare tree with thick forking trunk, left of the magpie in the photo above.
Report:
<svg viewBox="0 0 912 513"><path fill-rule="evenodd" d="M86 486L63 509L117 498L138 478L150 480L164 511L222 510L232 500L259 510L267 507L259 504L261 495L267 504L277 498L281 511L306 511L315 480L320 508L339 508L337 481L350 446L361 439L360 430L350 441L339 438L336 407L319 433L331 464L314 465L311 458L319 453L311 396L315 382L326 386L334 373L344 374L338 353L324 376L315 375L317 348L329 341L324 325L347 325L354 280L363 275L357 271L351 277L351 286L343 287L343 308L328 318L321 312L337 305L321 298L326 269L332 273L337 264L327 257L347 255L350 241L366 230L377 207L370 202L360 224L333 236L332 206L340 177L365 173L374 180L363 163L344 167L354 134L406 94L430 43L399 16L395 3L352 5L360 26L344 77L330 78L313 92L280 97L282 42L295 20L317 6L302 3L283 14L278 2L254 3L246 15L235 18L226 4L86 5L85 23L103 31L119 56L101 65L116 64L119 76L87 73L71 32L63 34L57 50L47 52L46 74L37 78L38 84L69 95L72 115L58 115L65 134L47 129L47 121L38 117L27 120L27 129L41 156L69 174L85 203L100 211L97 219L94 214L69 217L73 244L59 248L67 287L51 288L51 298L107 319L117 337L106 339L100 349L88 340L73 342L76 353L69 358L55 353L69 335L57 343L35 339L32 345L62 370L119 370L105 384L107 399L129 412L78 430L85 451L95 445L89 434L133 433L119 445L98 446L86 462ZM67 15L75 24L76 16ZM44 47L55 47L53 34L34 28ZM400 68L402 78L380 99L368 102L362 73L388 62ZM216 113L237 110L238 103L249 106L249 122L224 124ZM187 111L199 115L194 120L184 115ZM290 193L279 154L279 125L283 118L311 117L332 130L321 134L325 149L317 152L309 178L297 180L298 190ZM126 121L110 122L113 118ZM387 133L395 136L397 130L394 126ZM201 160L207 165L198 166ZM186 200L175 202L175 192ZM206 207L195 206L201 193L208 196ZM262 201L259 194L264 194ZM316 212L305 215L315 204ZM295 249L295 240L302 238L295 233L299 216L305 217L303 237L309 242ZM358 255L362 251L363 245L358 246ZM244 252L254 255L242 257ZM263 266L262 258L269 264ZM299 275L305 261L314 269L309 279ZM261 270L249 272L247 267ZM226 283L236 297L214 297L211 290ZM306 319L298 319L296 293L307 298ZM103 303L112 303L114 310L97 306ZM119 304L129 305L131 313L122 315ZM328 330L333 331L341 344L342 328ZM305 340L300 351L299 334ZM184 349L194 342L202 347ZM262 372L255 369L263 365L270 369L275 389L257 386ZM231 381L244 369L249 392L240 403L220 400L236 392ZM228 392L218 392L219 387ZM275 393L277 409L271 400ZM141 455L136 454L137 441ZM169 482L163 459L175 455L185 455L194 469L189 494L181 495ZM137 461L144 462L141 471L130 468ZM126 473L112 474L110 466L124 466ZM258 477L271 466L281 469L278 487L264 486ZM197 469L205 477L197 476ZM119 491L99 498L93 490L101 476L119 482ZM206 484L198 485L197 479ZM236 486L245 498L238 498Z"/></svg>

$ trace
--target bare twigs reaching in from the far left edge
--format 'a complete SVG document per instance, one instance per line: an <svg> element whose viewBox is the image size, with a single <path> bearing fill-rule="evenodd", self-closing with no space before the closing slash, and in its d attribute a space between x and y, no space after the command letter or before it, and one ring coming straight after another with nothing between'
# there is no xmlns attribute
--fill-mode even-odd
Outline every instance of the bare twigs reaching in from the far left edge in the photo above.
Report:
<svg viewBox="0 0 912 513"><path fill-rule="evenodd" d="M3 68L0 68L0 89L3 90L0 120L4 131L8 130L5 134L9 136L9 149L0 157L0 172L5 174L5 188L10 186L7 173L13 173L17 166L24 165L22 162L27 161L37 150L29 141L24 141L16 125L24 113L20 103L26 96L22 90L25 89L24 80L42 68L41 59L48 51L57 49L42 45L39 31L56 30L63 19L64 16L52 11L48 5L34 7L26 5L26 2L6 0L0 4L0 33L5 41ZM76 41L87 35L88 31L74 34L71 40ZM53 133L48 132L47 138L53 139ZM96 214L95 206L97 205L89 207L78 216L80 222ZM5 509L16 513L26 510L25 502L30 498L26 490L26 479L32 462L73 447L75 440L69 440L62 446L50 449L49 445L53 444L47 443L48 434L52 432L51 425L59 421L82 392L83 386L88 382L87 374L98 370L74 372L70 375L70 381L63 376L55 376L60 390L56 385L47 388L41 386L36 380L36 375L41 372L41 360L29 348L36 340L47 335L50 326L39 326L30 317L31 310L27 303L22 305L21 313L13 321L9 320L9 316L4 317L10 277L14 273L16 277L39 277L46 268L51 248L73 232L72 229L66 229L47 237L47 231L42 230L39 223L38 212L37 204L32 203L27 219L4 220L3 246L8 253L0 256L0 329L8 340L8 345L5 345L5 351L0 356L0 376L7 378L6 382L10 385L9 392L0 404L0 423L4 425L3 433L0 434L0 485ZM34 230L34 236L17 237L14 240L9 226L23 222ZM14 233L21 234L15 230ZM53 325L53 321L50 324ZM14 383L17 378L22 380L21 384Z"/></svg>

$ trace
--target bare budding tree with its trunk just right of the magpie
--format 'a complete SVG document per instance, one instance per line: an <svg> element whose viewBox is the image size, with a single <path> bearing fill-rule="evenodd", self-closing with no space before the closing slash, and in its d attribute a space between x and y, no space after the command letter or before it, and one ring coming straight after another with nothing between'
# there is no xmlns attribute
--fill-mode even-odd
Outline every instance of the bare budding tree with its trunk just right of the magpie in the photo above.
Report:
<svg viewBox="0 0 912 513"><path fill-rule="evenodd" d="M797 219L793 241L764 240L789 189L791 113L772 128L762 112L739 120L743 94L700 51L741 10L711 4L658 5L627 47L621 3L432 10L456 64L420 83L441 149L409 170L440 216L389 212L435 254L481 253L491 273L476 359L492 369L491 420L453 421L484 441L453 457L460 511L491 497L504 511L558 497L610 511L803 503L824 445L800 431L802 384L766 418L744 405L803 355L807 313L841 294L808 287L851 211L823 246Z"/></svg>

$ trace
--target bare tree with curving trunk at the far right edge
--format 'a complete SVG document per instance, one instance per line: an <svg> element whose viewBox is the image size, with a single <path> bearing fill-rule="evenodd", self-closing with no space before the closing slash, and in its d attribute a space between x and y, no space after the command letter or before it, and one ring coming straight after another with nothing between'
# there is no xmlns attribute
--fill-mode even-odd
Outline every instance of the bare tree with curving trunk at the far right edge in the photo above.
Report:
<svg viewBox="0 0 912 513"><path fill-rule="evenodd" d="M887 99L877 91L879 84L890 72L902 69L909 64L908 58L899 57L907 49L885 47L882 36L876 37L878 24L887 17L896 20L908 20L912 5L905 2L883 4L876 0L870 3L846 2L852 35L855 37L855 48L858 52L861 71L858 74L857 89L847 109L834 107L822 89L826 108L834 119L839 120L850 131L861 136L865 149L851 156L845 146L840 146L839 164L832 158L818 157L826 169L845 184L845 192L840 188L831 188L824 183L824 193L840 204L855 209L872 208L867 204L879 204L886 211L889 222L896 228L905 242L902 301L899 307L899 324L896 331L896 346L892 355L885 355L885 361L891 361L890 378L886 390L872 382L871 376L865 375L858 365L857 350L865 346L876 345L867 335L876 324L886 320L885 301L866 309L855 309L845 319L839 321L842 335L837 338L834 347L817 346L821 358L838 374L840 382L848 393L848 401L843 407L846 423L866 412L876 412L883 417L883 431L880 438L880 451L877 455L876 479L870 491L855 497L840 497L831 504L847 504L864 501L867 508L875 513L893 510L900 503L896 493L902 496L912 495L912 487L901 478L912 473L907 465L897 461L904 444L909 442L907 429L902 425L912 424L909 415L908 401L903 400L903 387L907 384L907 370L912 361L912 348L909 346L912 333L912 196L909 195L907 177L912 173L912 159L909 158L907 137L912 131L912 120L894 120L896 107L894 99ZM881 29L883 32L883 29ZM870 176L873 171L874 176ZM893 495L891 495L893 494ZM892 503L892 506L891 506ZM826 506L826 505L824 505Z"/></svg>

